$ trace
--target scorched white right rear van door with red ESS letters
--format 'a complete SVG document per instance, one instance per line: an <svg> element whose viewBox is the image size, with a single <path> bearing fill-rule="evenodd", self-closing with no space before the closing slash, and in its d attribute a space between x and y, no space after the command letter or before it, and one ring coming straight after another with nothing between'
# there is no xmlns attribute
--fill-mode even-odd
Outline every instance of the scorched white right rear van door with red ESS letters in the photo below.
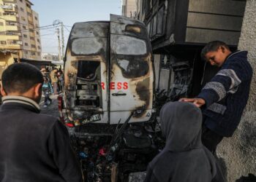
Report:
<svg viewBox="0 0 256 182"><path fill-rule="evenodd" d="M110 124L145 122L151 117L153 69L151 45L143 23L110 15Z"/></svg>

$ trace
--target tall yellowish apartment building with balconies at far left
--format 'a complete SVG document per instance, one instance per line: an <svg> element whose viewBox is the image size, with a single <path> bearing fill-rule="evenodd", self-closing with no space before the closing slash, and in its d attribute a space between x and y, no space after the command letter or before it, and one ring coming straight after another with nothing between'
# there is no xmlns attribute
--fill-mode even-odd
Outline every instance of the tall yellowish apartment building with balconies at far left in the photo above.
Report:
<svg viewBox="0 0 256 182"><path fill-rule="evenodd" d="M32 6L29 0L0 0L0 54L5 60L41 60L39 17Z"/></svg>

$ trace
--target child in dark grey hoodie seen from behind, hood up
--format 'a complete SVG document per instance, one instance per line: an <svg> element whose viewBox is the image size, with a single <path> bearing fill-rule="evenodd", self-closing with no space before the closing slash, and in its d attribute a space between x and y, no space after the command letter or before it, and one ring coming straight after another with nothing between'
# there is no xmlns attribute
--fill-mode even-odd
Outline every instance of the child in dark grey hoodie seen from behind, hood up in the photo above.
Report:
<svg viewBox="0 0 256 182"><path fill-rule="evenodd" d="M216 159L201 143L202 114L192 103L166 103L160 111L165 148L148 165L146 182L224 181Z"/></svg>

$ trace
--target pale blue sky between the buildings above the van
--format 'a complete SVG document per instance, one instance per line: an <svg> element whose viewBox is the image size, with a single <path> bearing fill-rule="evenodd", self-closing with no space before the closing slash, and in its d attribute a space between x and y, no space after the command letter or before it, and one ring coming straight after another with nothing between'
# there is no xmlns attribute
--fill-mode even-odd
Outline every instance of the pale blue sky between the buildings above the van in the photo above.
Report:
<svg viewBox="0 0 256 182"><path fill-rule="evenodd" d="M39 14L39 26L53 25L54 20L64 24L66 49L69 31L77 22L109 20L110 14L121 15L121 0L30 0L31 8ZM40 30L42 52L58 53L56 27Z"/></svg>

